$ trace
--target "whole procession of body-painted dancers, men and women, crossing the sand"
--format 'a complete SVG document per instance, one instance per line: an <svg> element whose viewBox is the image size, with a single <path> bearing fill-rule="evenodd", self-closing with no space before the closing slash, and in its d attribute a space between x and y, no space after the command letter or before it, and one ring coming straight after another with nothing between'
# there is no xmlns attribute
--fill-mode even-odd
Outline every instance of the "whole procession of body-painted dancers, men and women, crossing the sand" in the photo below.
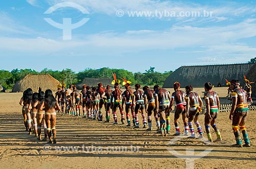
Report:
<svg viewBox="0 0 256 169"><path fill-rule="evenodd" d="M176 102L176 110L174 113L174 127L175 133L173 135L181 135L179 127L179 119L182 117L184 124L184 134L188 138L196 138L196 132L193 123L198 132L197 138L203 138L203 129L199 123L199 115L202 114L203 101L200 95L193 91L193 86L185 87L185 92L180 89L180 83L174 83L174 92L170 94L165 89L158 85L150 89L144 86L141 90L139 84L135 85L135 90L131 89L131 81L124 77L122 85L125 87L124 91L119 89L120 80L116 78L113 73L114 90L108 85L103 88L102 83L98 83L97 87L87 85L82 86L80 92L75 85L65 89L65 86L58 87L58 91L53 97L51 90L46 92L39 91L33 93L31 89L27 89L20 105L23 105L24 124L29 134L32 134L32 127L35 135L41 140L41 128L45 129L45 140L47 135L49 143L56 143L56 111L63 112L64 104L66 104L66 114L81 116L80 106L82 106L83 117L102 121L102 108L105 108L105 122L110 122L111 110L113 114L114 124L118 124L117 110L120 112L120 122L125 124L125 117L127 127L133 126L139 128L139 115L142 117L143 128L148 128L146 131L152 131L152 119L155 118L157 132L162 136L167 136L170 132L170 112L173 110L174 102ZM245 78L246 79L246 78ZM248 134L245 128L246 117L249 109L247 105L247 94L245 90L240 88L240 81L232 79L229 83L229 90L231 92L232 108L230 110L229 119L232 120L232 129L236 137L236 144L233 147L250 147ZM205 112L204 112L204 127L208 142L213 142L210 126L215 130L217 139L215 142L221 141L221 133L217 127L216 120L218 118L220 109L219 96L215 91L212 91L213 85L206 82L204 85ZM147 118L146 118L147 117ZM34 124L31 125L31 119ZM245 144L242 145L242 139L239 129L241 130ZM190 133L190 134L189 134ZM53 138L52 135L53 134Z"/></svg>

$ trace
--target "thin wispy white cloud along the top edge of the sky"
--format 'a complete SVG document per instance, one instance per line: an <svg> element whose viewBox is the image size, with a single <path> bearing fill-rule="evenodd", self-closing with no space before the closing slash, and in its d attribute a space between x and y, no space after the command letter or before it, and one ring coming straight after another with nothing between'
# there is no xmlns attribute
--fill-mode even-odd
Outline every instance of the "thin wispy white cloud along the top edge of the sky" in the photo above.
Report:
<svg viewBox="0 0 256 169"><path fill-rule="evenodd" d="M58 4L60 2L66 2L66 0L45 0L49 5ZM177 2L177 1L153 1L153 0L70 0L69 2L77 3L84 8L87 8L90 12L104 13L108 15L115 15L116 10L121 9L127 11L169 11L169 12L212 12L212 18L216 18L217 21L223 20L225 17L242 17L249 16L256 12L256 7L250 4L244 5L233 2L222 3L223 5L200 5L193 2ZM168 18L166 18L168 19ZM186 20L189 18L181 17L177 19ZM197 19L204 19L198 17Z"/></svg>

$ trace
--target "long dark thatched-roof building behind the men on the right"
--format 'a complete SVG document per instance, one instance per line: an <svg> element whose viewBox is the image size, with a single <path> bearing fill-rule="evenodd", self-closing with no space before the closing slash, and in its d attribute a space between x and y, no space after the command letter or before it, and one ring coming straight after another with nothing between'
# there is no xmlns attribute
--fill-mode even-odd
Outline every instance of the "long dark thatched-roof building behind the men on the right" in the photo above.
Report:
<svg viewBox="0 0 256 169"><path fill-rule="evenodd" d="M163 88L173 88L175 81L181 83L181 87L192 85L194 87L203 87L204 83L209 81L217 87L218 83L225 86L225 79L240 79L244 84L243 75L245 75L254 64L229 64L229 65L206 65L206 66L182 66L170 74Z"/></svg>

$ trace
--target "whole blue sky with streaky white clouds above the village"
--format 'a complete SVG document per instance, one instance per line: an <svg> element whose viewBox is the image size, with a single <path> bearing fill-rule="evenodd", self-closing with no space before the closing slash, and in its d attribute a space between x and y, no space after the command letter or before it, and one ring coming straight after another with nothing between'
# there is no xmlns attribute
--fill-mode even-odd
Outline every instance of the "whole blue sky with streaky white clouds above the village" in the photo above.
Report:
<svg viewBox="0 0 256 169"><path fill-rule="evenodd" d="M62 8L44 14L60 3ZM118 10L123 16L117 16ZM131 12L142 16L129 16ZM191 16L193 12L200 17ZM0 2L0 18L4 70L110 67L144 72L155 67L164 72L256 57L256 1L8 0ZM73 24L90 19L63 40L62 30L44 18L58 23L71 18Z"/></svg>

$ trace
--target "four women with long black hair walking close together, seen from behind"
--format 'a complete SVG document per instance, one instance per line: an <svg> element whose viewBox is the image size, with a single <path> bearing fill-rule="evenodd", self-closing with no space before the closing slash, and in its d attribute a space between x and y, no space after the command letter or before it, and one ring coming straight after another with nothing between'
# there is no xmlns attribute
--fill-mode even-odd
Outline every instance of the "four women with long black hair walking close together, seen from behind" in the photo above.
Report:
<svg viewBox="0 0 256 169"><path fill-rule="evenodd" d="M20 105L23 106L22 112L24 116L24 124L29 134L32 134L32 130L35 132L35 136L38 140L47 140L48 143L56 143L56 112L60 110L60 106L53 96L50 89L45 92L39 88L38 93L28 88L23 97L20 99ZM33 125L32 125L33 122ZM45 137L41 139L41 129L44 129ZM53 134L53 137L52 137Z"/></svg>

